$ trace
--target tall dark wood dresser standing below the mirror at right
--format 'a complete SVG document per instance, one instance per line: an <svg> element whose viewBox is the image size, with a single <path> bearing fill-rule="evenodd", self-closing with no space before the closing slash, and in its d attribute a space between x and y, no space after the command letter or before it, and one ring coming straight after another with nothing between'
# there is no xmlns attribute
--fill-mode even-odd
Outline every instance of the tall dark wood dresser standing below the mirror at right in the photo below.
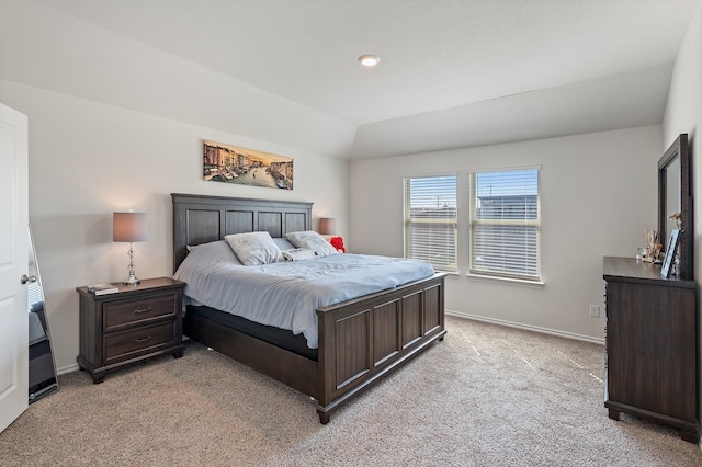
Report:
<svg viewBox="0 0 702 467"><path fill-rule="evenodd" d="M659 265L611 257L603 277L609 417L655 420L697 442L694 281L663 278Z"/></svg>

